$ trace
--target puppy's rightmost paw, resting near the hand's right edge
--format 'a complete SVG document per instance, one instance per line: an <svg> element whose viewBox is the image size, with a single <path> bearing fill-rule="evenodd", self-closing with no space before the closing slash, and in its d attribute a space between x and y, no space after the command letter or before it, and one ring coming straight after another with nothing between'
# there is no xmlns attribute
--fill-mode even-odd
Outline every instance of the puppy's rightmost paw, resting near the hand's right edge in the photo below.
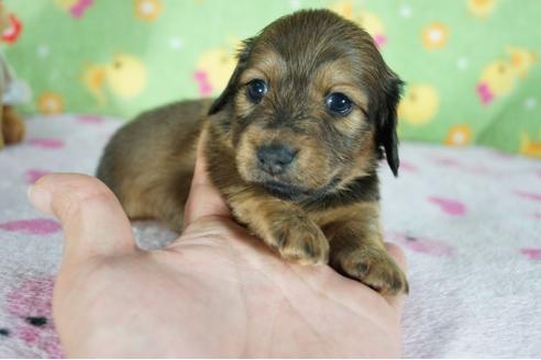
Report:
<svg viewBox="0 0 541 360"><path fill-rule="evenodd" d="M373 247L342 252L333 263L345 275L371 286L382 295L408 293L406 275L398 265L384 250Z"/></svg>

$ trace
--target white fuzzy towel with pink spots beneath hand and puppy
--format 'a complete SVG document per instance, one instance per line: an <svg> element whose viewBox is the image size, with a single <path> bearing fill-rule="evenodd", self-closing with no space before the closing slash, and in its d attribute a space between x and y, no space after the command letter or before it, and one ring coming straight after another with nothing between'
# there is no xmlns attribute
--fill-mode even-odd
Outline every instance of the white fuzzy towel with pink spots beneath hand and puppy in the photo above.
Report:
<svg viewBox="0 0 541 360"><path fill-rule="evenodd" d="M49 171L93 173L120 122L34 117L0 153L0 357L60 357L51 294L58 224L26 188ZM402 144L400 177L382 167L386 236L406 251L406 357L541 357L541 162L484 148ZM134 225L144 248L173 239Z"/></svg>

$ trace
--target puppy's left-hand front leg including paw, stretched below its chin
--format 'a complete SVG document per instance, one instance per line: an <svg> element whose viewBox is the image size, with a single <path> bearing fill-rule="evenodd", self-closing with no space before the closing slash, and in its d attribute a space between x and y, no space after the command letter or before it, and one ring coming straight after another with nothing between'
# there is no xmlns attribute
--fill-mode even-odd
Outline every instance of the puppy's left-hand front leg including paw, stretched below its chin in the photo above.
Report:
<svg viewBox="0 0 541 360"><path fill-rule="evenodd" d="M238 221L285 259L305 265L328 262L329 241L302 209L251 189L235 191L228 200Z"/></svg>

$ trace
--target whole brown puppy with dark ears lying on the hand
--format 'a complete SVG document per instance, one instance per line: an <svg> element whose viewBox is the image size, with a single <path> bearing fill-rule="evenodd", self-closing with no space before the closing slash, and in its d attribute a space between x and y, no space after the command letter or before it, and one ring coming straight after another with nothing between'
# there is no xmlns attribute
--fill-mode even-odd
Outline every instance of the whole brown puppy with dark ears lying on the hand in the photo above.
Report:
<svg viewBox="0 0 541 360"><path fill-rule="evenodd" d="M181 229L197 138L234 217L301 263L330 265L383 294L407 292L379 225L383 153L396 175L400 79L371 36L327 10L284 16L244 42L227 89L140 115L98 177L132 218Z"/></svg>

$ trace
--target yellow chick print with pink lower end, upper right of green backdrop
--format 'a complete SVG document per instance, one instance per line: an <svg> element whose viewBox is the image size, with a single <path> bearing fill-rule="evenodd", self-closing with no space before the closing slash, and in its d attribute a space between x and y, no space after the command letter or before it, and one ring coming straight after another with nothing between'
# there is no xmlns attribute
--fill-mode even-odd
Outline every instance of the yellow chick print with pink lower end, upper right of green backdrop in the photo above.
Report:
<svg viewBox="0 0 541 360"><path fill-rule="evenodd" d="M481 74L475 90L483 105L509 94L538 61L538 55L527 48L509 46L507 54L509 58L490 61Z"/></svg>

